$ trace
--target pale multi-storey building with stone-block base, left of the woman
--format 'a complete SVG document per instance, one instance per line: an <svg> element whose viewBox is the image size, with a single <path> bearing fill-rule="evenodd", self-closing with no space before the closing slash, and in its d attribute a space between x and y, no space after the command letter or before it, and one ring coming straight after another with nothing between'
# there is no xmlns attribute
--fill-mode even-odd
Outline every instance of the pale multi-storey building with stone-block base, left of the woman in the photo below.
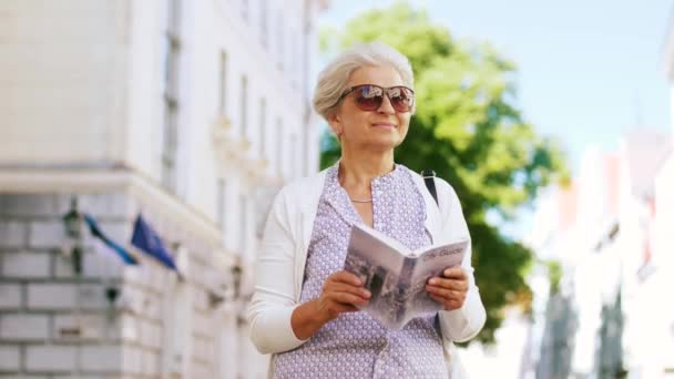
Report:
<svg viewBox="0 0 674 379"><path fill-rule="evenodd" d="M243 307L273 195L318 167L326 6L0 2L1 373L266 376ZM139 214L177 269L129 244Z"/></svg>

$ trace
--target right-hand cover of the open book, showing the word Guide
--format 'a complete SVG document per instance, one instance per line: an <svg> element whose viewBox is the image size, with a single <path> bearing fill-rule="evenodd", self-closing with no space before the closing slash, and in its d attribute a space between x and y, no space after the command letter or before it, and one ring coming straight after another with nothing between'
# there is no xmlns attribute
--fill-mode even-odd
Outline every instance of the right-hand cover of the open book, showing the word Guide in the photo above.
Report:
<svg viewBox="0 0 674 379"><path fill-rule="evenodd" d="M428 279L440 276L446 268L460 266L468 248L468 240L436 246L423 253L416 259L416 267L411 275L411 287L409 294L409 314L405 322L409 319L427 313L435 313L442 309L442 305L433 300L426 290Z"/></svg>

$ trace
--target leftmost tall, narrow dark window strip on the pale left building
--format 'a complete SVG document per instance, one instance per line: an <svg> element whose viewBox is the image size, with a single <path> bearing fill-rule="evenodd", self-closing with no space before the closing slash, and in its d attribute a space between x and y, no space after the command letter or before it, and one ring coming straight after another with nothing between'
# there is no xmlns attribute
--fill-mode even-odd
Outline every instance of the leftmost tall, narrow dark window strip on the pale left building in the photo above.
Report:
<svg viewBox="0 0 674 379"><path fill-rule="evenodd" d="M162 172L161 182L168 191L177 185L177 141L178 141L178 63L180 63L180 0L166 2L166 30L164 33L164 120L162 125Z"/></svg>

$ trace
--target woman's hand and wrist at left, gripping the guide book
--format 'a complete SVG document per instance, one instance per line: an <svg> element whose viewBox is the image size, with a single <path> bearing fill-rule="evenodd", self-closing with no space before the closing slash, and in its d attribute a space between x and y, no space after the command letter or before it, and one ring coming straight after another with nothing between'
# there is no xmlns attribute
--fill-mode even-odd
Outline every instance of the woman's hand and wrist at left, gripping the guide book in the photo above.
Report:
<svg viewBox="0 0 674 379"><path fill-rule="evenodd" d="M293 331L297 338L307 339L340 314L358 310L356 305L366 305L370 296L356 275L337 272L325 280L318 298L295 308L290 318Z"/></svg>

